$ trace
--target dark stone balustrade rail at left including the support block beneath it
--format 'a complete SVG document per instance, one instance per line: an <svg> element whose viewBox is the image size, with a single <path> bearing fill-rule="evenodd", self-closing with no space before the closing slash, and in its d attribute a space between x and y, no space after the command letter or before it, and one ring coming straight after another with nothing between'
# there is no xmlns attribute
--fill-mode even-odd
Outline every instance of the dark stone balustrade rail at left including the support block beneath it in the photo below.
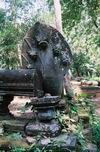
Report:
<svg viewBox="0 0 100 152"><path fill-rule="evenodd" d="M0 113L8 113L8 105L14 96L37 95L41 90L35 70L0 70ZM37 88L36 89L36 85Z"/></svg>

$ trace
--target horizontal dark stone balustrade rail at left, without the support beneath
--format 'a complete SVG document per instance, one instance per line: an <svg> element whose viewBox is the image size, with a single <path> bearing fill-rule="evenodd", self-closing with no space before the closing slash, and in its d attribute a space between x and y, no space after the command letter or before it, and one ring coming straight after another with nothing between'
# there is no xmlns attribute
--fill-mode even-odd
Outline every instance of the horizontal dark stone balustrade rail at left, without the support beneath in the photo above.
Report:
<svg viewBox="0 0 100 152"><path fill-rule="evenodd" d="M38 96L38 90L42 84L35 69L0 70L0 95Z"/></svg>

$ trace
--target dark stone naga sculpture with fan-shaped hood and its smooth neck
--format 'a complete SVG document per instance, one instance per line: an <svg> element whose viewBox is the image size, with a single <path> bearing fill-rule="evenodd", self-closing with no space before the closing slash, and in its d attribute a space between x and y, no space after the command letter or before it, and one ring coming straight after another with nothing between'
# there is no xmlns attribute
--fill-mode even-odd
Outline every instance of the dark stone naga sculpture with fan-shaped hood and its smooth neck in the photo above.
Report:
<svg viewBox="0 0 100 152"><path fill-rule="evenodd" d="M55 28L37 22L26 33L22 43L22 67L37 70L44 93L62 94L63 75L71 60L69 45Z"/></svg>

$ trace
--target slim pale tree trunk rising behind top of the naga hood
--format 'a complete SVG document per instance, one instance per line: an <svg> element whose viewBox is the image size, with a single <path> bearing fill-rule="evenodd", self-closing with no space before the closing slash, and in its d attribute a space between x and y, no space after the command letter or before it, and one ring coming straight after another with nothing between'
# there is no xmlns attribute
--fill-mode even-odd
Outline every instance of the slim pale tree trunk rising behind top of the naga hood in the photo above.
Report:
<svg viewBox="0 0 100 152"><path fill-rule="evenodd" d="M60 0L54 0L56 29L62 33L62 17Z"/></svg>

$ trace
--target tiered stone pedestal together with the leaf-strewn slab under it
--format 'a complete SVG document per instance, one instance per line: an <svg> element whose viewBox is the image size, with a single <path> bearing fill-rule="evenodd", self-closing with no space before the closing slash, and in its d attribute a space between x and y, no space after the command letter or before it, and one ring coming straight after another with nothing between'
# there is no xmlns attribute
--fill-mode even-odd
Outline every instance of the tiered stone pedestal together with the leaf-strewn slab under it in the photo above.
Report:
<svg viewBox="0 0 100 152"><path fill-rule="evenodd" d="M57 109L60 101L61 99L58 96L50 95L31 100L29 104L35 112L36 120L26 125L26 139L29 139L28 142L34 143L35 141L36 146L46 147L47 150L75 151L76 136L62 133L62 125L57 119ZM38 138L39 140L37 140Z"/></svg>

